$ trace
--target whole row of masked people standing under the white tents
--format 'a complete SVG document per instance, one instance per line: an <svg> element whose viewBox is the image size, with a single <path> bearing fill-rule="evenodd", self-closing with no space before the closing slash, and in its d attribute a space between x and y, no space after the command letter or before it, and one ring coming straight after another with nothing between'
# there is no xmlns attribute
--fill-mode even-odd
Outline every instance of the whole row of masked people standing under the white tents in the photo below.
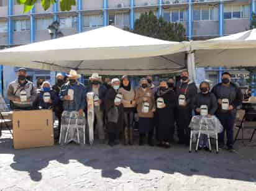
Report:
<svg viewBox="0 0 256 191"><path fill-rule="evenodd" d="M106 78L102 82L97 73L92 74L85 87L79 82L80 74L71 70L67 81L62 74L57 74L57 83L53 87L49 82L43 82L39 91L27 81L24 68L19 69L17 75L7 93L12 109L53 109L59 121L63 110L76 110L80 115L86 113L86 94L93 92L95 130L102 143L106 140L106 130L110 146L118 144L122 138L124 144L134 144L135 123L139 127L139 145L154 146L157 140L158 146L170 148L175 127L178 143L189 144L191 118L194 114L200 115L201 105L207 105L208 115L216 115L224 127L219 135L219 145L224 146L226 131L227 148L233 149L235 113L242 102L242 93L231 82L229 73L223 73L222 82L212 90L208 82L201 82L199 91L190 81L188 71L180 74L180 81L160 81L158 87L153 85L152 76L147 76L140 79L139 87L134 88L128 76ZM224 108L224 102L227 108ZM208 148L204 137L199 147Z"/></svg>

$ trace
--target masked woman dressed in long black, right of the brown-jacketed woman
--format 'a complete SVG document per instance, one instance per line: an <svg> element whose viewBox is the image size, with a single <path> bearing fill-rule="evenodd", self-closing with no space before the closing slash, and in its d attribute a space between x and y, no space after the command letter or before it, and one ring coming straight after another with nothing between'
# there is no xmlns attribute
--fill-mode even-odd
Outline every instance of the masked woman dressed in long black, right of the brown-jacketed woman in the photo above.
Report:
<svg viewBox="0 0 256 191"><path fill-rule="evenodd" d="M176 96L175 92L168 88L167 82L160 82L159 88L155 93L157 102L157 138L158 146L170 148L170 141L174 133L174 110Z"/></svg>

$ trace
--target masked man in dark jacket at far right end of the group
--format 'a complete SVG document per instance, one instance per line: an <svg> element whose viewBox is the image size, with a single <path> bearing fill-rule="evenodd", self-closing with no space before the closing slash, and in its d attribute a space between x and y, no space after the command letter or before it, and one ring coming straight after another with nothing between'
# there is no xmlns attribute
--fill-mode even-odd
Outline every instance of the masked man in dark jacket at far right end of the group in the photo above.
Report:
<svg viewBox="0 0 256 191"><path fill-rule="evenodd" d="M231 74L229 73L222 73L222 82L214 86L212 92L219 105L216 116L224 128L222 133L219 133L219 147L224 147L224 133L226 131L227 149L233 151L236 109L242 104L242 92L231 82Z"/></svg>

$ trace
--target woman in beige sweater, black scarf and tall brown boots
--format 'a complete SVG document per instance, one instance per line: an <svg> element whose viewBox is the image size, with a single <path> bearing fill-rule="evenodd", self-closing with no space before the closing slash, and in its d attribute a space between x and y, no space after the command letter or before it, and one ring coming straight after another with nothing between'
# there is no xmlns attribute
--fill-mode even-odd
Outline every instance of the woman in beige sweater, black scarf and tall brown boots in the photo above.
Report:
<svg viewBox="0 0 256 191"><path fill-rule="evenodd" d="M124 105L124 141L125 144L133 143L133 123L134 123L134 110L135 110L135 91L130 86L128 76L122 76L121 87L118 91L122 94L122 104Z"/></svg>

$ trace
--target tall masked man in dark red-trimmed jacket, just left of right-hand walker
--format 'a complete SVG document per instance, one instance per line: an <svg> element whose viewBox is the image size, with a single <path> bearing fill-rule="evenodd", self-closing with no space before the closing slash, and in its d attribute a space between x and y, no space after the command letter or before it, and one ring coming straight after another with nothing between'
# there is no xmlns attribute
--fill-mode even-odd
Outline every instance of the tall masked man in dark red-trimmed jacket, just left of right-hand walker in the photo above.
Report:
<svg viewBox="0 0 256 191"><path fill-rule="evenodd" d="M189 145L190 130L188 126L192 118L194 96L197 94L197 87L190 81L188 71L181 73L181 81L176 86L178 104L176 110L176 124L178 127L179 144Z"/></svg>

